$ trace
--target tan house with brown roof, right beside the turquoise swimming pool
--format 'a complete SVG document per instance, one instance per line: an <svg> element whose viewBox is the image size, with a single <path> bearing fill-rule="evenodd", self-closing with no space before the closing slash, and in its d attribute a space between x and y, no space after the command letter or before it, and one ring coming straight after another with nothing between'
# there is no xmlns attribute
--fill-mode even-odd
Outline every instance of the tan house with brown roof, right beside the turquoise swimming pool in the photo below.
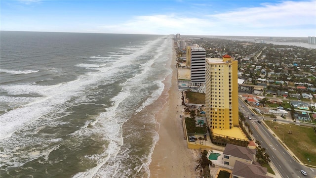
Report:
<svg viewBox="0 0 316 178"><path fill-rule="evenodd" d="M227 144L223 152L224 166L234 167L236 161L253 164L256 161L256 149L250 149L233 144Z"/></svg>

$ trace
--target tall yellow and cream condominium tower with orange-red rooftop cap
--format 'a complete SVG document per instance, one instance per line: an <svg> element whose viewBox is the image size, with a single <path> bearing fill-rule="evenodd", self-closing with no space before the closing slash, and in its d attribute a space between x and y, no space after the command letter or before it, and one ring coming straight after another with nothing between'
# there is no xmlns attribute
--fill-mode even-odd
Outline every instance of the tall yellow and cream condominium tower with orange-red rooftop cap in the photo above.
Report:
<svg viewBox="0 0 316 178"><path fill-rule="evenodd" d="M228 54L206 58L206 119L209 127L238 127L238 61Z"/></svg>

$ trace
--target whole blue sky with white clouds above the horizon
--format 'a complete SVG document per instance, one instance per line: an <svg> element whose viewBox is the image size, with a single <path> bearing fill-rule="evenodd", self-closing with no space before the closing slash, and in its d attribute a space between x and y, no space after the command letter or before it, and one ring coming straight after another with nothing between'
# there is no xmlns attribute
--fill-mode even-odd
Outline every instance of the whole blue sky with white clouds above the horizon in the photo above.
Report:
<svg viewBox="0 0 316 178"><path fill-rule="evenodd" d="M0 30L316 36L316 0L0 0Z"/></svg>

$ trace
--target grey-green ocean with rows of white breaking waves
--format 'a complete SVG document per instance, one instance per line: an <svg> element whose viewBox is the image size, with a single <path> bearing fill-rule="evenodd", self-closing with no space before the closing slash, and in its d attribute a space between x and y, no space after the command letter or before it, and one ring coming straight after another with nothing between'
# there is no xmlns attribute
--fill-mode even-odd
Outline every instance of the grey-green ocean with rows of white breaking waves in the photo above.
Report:
<svg viewBox="0 0 316 178"><path fill-rule="evenodd" d="M173 55L172 36L1 31L0 177L148 178Z"/></svg>

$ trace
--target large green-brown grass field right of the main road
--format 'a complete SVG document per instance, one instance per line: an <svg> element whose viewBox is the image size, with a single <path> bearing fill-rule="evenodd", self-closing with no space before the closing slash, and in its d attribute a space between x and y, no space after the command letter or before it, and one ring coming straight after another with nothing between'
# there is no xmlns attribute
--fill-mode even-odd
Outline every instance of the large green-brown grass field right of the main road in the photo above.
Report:
<svg viewBox="0 0 316 178"><path fill-rule="evenodd" d="M313 128L265 121L271 130L304 164L316 166L316 133ZM277 127L275 129L275 126ZM291 130L292 134L288 134ZM284 134L284 135L283 135ZM308 160L309 159L309 160Z"/></svg>

